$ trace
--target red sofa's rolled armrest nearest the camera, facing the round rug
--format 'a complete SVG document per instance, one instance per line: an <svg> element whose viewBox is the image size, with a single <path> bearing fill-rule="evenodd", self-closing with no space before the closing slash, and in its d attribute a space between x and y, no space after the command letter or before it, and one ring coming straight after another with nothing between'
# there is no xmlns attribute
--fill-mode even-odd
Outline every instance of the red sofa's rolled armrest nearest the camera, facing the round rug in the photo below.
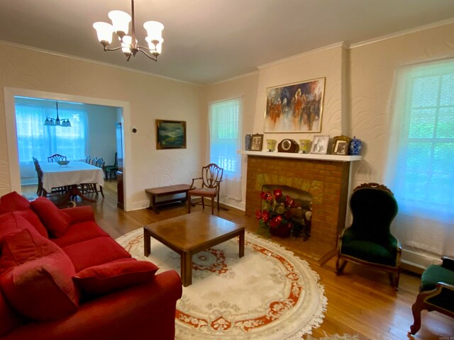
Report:
<svg viewBox="0 0 454 340"><path fill-rule="evenodd" d="M175 339L175 306L182 283L175 271L153 280L97 297L79 310L53 322L16 327L5 340Z"/></svg>

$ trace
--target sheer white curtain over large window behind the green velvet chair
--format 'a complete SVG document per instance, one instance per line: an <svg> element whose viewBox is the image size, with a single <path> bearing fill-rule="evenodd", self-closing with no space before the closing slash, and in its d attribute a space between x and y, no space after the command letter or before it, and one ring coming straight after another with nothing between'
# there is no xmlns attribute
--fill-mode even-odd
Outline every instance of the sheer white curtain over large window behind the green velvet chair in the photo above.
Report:
<svg viewBox="0 0 454 340"><path fill-rule="evenodd" d="M454 61L396 74L386 183L402 244L454 255Z"/></svg>

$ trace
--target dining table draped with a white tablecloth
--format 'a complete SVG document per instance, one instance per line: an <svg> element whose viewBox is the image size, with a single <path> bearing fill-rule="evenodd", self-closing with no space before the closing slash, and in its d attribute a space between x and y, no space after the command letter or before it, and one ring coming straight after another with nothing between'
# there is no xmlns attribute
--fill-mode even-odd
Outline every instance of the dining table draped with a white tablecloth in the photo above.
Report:
<svg viewBox="0 0 454 340"><path fill-rule="evenodd" d="M48 193L52 191L52 188L68 188L59 205L65 205L70 202L71 198L77 196L88 202L96 202L96 200L84 196L79 189L79 184L97 183L99 186L104 186L103 169L92 164L74 161L67 165L42 163L40 167L43 171L43 188Z"/></svg>

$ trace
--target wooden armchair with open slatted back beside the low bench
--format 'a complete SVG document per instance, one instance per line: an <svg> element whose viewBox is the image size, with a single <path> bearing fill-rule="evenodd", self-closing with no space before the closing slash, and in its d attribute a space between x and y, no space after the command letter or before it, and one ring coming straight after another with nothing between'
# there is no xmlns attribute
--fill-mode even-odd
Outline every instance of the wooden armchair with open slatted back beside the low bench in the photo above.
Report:
<svg viewBox="0 0 454 340"><path fill-rule="evenodd" d="M211 198L211 215L214 215L214 198L217 198L217 207L219 211L219 190L221 188L223 169L214 163L208 164L201 168L201 176L192 179L191 187L187 193L187 212L191 212L192 196L201 197L201 205L205 208L204 198ZM196 181L201 181L201 187L196 188Z"/></svg>

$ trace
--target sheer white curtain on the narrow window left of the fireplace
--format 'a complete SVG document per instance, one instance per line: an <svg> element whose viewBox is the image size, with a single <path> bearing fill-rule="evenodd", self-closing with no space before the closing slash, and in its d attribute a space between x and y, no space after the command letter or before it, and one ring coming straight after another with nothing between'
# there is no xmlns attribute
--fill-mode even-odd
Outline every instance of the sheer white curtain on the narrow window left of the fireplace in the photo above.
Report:
<svg viewBox="0 0 454 340"><path fill-rule="evenodd" d="M223 168L221 196L241 200L241 98L209 104L210 162Z"/></svg>

